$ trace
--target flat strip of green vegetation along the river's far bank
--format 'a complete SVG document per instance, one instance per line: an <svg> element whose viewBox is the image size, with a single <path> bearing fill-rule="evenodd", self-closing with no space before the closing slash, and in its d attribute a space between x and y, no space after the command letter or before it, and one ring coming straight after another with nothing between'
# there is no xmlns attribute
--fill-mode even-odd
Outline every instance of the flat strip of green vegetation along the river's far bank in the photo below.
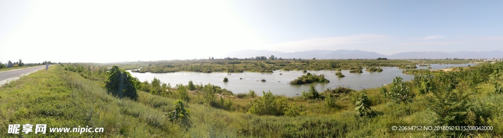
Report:
<svg viewBox="0 0 503 138"><path fill-rule="evenodd" d="M470 63L483 62L483 60L374 60L374 59L354 59L354 60L287 60L276 59L267 60L264 58L225 58L225 59L210 59L210 60L171 60L171 61L137 61L137 62L122 62L101 65L113 66L118 65L125 70L136 70L140 67L139 73L173 73L173 72L262 72L272 73L276 70L283 71L319 71L319 70L350 70L354 66L413 66L415 64L426 63ZM135 71L136 72L136 71Z"/></svg>

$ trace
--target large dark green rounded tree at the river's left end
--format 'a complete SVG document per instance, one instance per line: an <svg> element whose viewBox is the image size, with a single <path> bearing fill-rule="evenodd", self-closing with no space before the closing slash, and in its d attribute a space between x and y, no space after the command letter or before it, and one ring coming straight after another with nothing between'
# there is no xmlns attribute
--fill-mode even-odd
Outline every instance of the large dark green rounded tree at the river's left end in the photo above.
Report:
<svg viewBox="0 0 503 138"><path fill-rule="evenodd" d="M127 97L133 100L138 98L136 89L138 88L139 81L133 78L131 74L118 66L113 66L108 72L108 79L105 81L105 88L108 93L120 98Z"/></svg>

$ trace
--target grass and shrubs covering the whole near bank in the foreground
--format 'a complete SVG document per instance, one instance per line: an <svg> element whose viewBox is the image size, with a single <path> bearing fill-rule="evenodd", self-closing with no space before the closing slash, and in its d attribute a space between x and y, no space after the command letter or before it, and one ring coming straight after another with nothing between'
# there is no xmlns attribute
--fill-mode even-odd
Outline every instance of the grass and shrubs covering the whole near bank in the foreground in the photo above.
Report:
<svg viewBox="0 0 503 138"><path fill-rule="evenodd" d="M189 101L178 101L179 89L188 92L188 86L171 88L167 84L166 91L156 93L143 91L147 89L143 87L153 86L143 82L135 101L108 94L103 84L108 79L106 66L52 65L49 71L0 87L0 125L105 128L103 133L23 133L22 137L501 137L503 94L496 85L503 80L501 68L503 62L483 63L425 76L431 78L425 83L431 86L429 92L407 104L394 103L379 88L355 91L339 87L320 93L323 100L306 100L272 92L258 98L236 98L213 86L213 96L221 96L213 107L205 105L203 85L194 85L187 94ZM164 89L163 83L158 84ZM416 86L415 79L403 82L395 78L383 88L419 93L411 86ZM178 119L171 121L169 112L177 109L172 114ZM188 119L180 119L185 116ZM393 123L492 126L493 130L404 133L389 130L387 126ZM19 137L7 134L7 129L0 133Z"/></svg>

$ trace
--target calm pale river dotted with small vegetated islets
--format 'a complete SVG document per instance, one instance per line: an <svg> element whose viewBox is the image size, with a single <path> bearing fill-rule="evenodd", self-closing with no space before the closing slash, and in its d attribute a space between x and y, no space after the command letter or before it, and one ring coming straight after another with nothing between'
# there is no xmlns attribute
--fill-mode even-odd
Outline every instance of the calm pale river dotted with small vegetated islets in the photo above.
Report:
<svg viewBox="0 0 503 138"><path fill-rule="evenodd" d="M470 64L431 64L431 70L438 70L451 66L468 66ZM418 66L417 69L425 69L428 66ZM310 85L313 85L318 92L322 92L327 88L334 89L337 87L347 87L355 90L369 89L381 87L381 85L390 84L395 77L402 77L404 81L409 81L414 78L413 75L402 73L402 69L398 67L381 67L383 72L371 73L363 71L363 73L349 73L349 70L341 71L344 78L337 78L337 71L307 71L311 74L324 74L329 83L315 83L306 85L290 85L289 82L304 75L301 71L273 71L273 73L195 73L195 72L177 72L177 73L131 73L133 77L140 81L152 81L155 78L163 83L187 85L190 80L194 84L208 84L220 86L232 91L234 94L247 93L249 90L254 90L258 95L262 95L262 91L271 91L273 94L285 96L302 95L302 91L309 90ZM364 68L365 70L365 68ZM130 71L129 71L130 72ZM280 75L282 74L282 75ZM223 78L227 77L229 82L223 82ZM266 82L261 82L265 79Z"/></svg>

